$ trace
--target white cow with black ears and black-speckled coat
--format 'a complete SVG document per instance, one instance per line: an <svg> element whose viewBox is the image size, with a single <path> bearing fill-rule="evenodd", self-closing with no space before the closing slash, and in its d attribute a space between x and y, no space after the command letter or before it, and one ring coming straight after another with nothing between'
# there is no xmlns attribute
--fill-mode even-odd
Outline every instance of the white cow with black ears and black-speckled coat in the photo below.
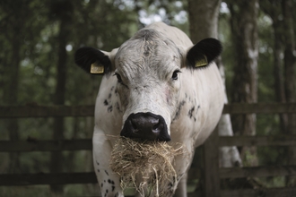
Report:
<svg viewBox="0 0 296 197"><path fill-rule="evenodd" d="M217 39L193 45L187 35L163 22L152 23L111 52L81 47L75 64L103 78L95 105L93 165L101 196L124 196L109 167L115 139L178 142L187 157L175 158L177 182L167 196L187 196L187 171L195 149L213 132L224 103L222 78L214 59ZM165 189L165 188L160 188Z"/></svg>

